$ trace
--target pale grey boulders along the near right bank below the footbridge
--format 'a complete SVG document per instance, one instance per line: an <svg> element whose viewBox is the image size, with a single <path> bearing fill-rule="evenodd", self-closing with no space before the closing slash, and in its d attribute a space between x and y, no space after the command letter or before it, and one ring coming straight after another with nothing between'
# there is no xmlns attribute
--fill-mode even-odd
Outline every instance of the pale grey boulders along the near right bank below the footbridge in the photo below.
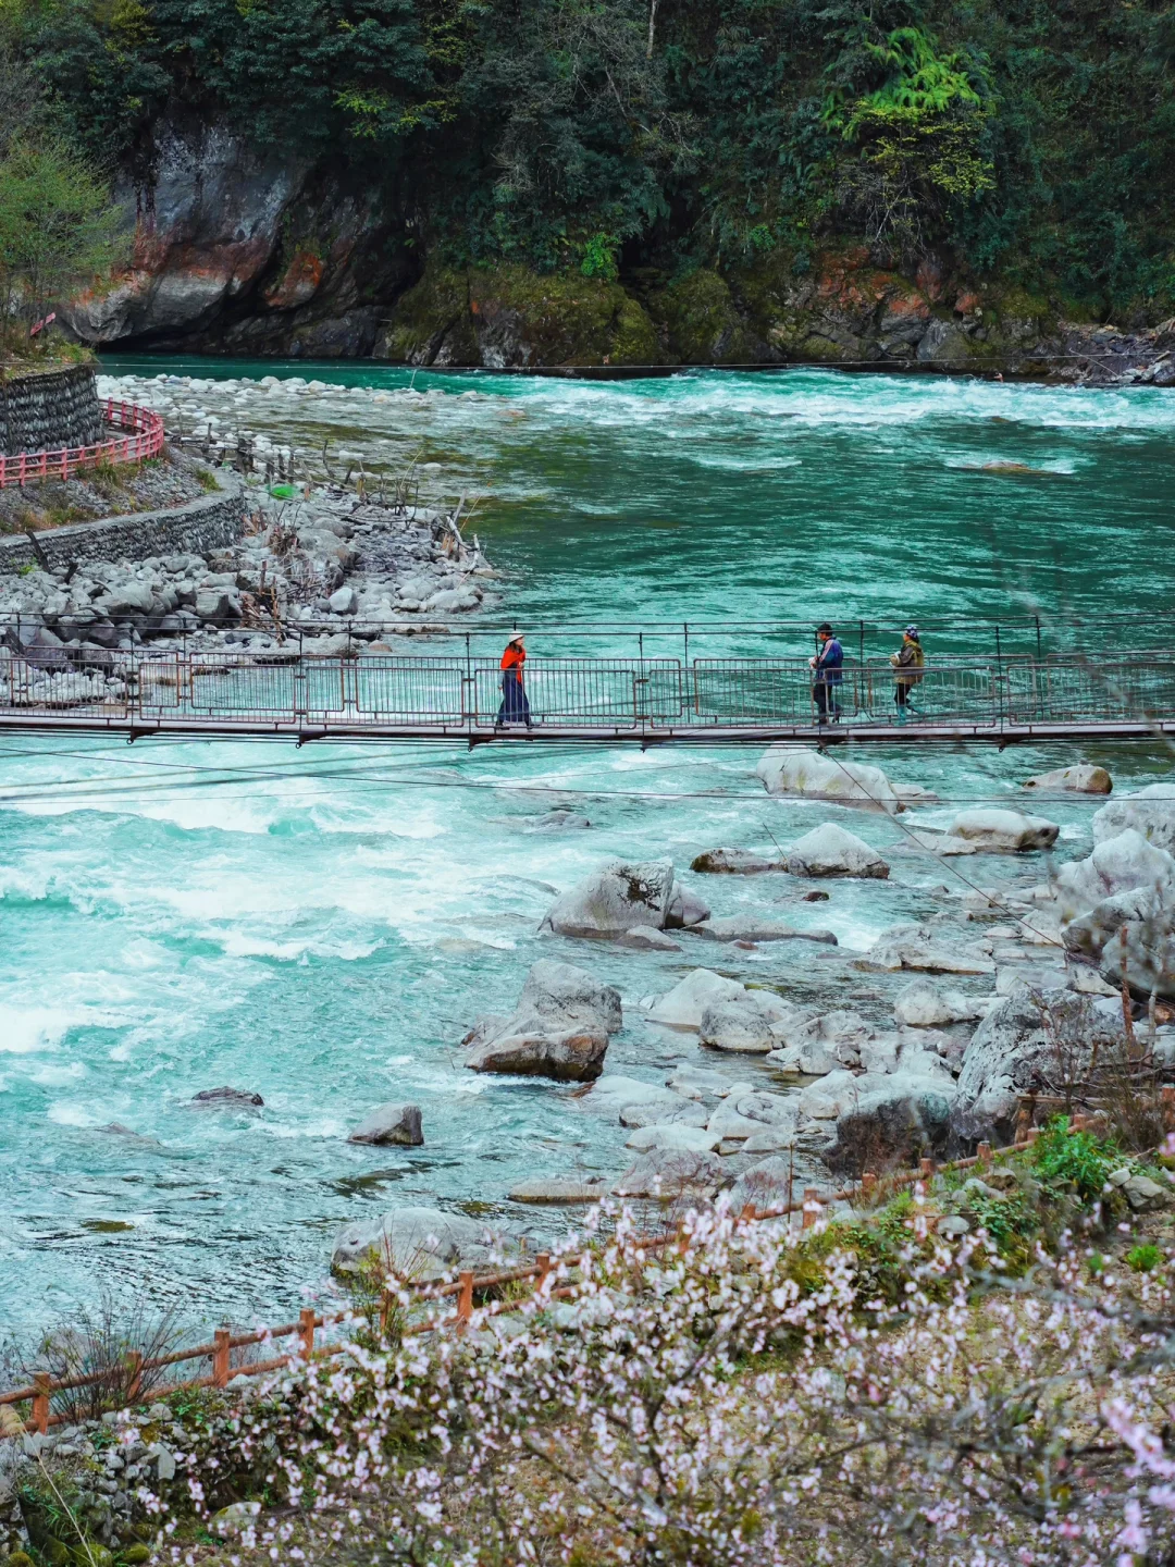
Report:
<svg viewBox="0 0 1175 1567"><path fill-rule="evenodd" d="M782 782L780 755L791 765ZM725 1192L736 1208L769 1208L807 1188L829 1197L865 1169L1010 1142L1025 1114L1045 1116L1065 1095L1104 1103L1119 1078L1148 1105L1145 1114L1159 1114L1158 1084L1175 1078L1175 948L1162 915L1175 898L1175 785L1101 804L1111 788L1101 768L1029 780L1034 809L1050 798L1097 802L1095 846L1076 860L1048 856L1056 823L1015 809L956 812L935 831L920 824L882 856L848 824L885 804L846 798L844 780L829 780L819 763L779 747L760 766L769 790L827 801L833 813L797 843L774 854L703 851L691 879L667 860L611 862L551 904L544 929L575 961L534 964L511 1017L473 1022L464 1066L583 1084L551 1092L573 1094L583 1114L616 1127L619 1172L592 1183L553 1164L515 1186L512 1202L566 1207L609 1192L697 1202ZM846 766L870 774L895 816L907 812L909 788L876 768ZM943 871L934 918L895 925L865 951L776 914L780 901L827 898L824 887L846 878L907 876L910 860L927 854ZM967 878L949 868L960 854ZM998 881L982 871L995 857ZM710 888L722 901L732 878L761 887L760 914L711 912ZM680 953L697 967L631 1008L594 976L602 942ZM801 987L722 972L722 943L746 953L765 942L801 942L822 979ZM849 984L852 1006L813 1000ZM613 1039L638 1020L663 1039L660 1081L608 1070ZM1145 1205L1150 1194L1137 1196ZM348 1225L334 1268L346 1274L371 1249L404 1266L409 1247L417 1266L426 1255L442 1271L512 1244L509 1222L436 1213L434 1229L429 1241L418 1207Z"/></svg>

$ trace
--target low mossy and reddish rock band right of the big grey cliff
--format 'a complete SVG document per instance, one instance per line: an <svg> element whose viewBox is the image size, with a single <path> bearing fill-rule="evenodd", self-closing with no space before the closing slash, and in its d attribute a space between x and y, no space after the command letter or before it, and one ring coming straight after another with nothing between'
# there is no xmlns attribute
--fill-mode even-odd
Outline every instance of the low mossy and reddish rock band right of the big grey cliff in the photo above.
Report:
<svg viewBox="0 0 1175 1567"><path fill-rule="evenodd" d="M631 291L578 273L429 265L374 353L437 367L912 364L1162 385L1175 381L1169 337L1065 323L1048 301L937 257L907 277L844 246L808 265L777 252L727 274L644 274Z"/></svg>

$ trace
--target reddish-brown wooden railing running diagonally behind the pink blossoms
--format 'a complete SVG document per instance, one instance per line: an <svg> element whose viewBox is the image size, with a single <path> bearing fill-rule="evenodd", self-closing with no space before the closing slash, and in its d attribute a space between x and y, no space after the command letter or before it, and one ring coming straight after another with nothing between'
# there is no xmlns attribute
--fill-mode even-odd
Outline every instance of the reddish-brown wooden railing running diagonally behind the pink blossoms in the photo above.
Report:
<svg viewBox="0 0 1175 1567"><path fill-rule="evenodd" d="M1164 1108L1175 1111L1175 1089L1164 1089ZM1089 1120L1084 1114L1078 1113L1070 1120L1070 1131L1086 1130ZM1039 1136L1039 1128L1031 1127L1023 1135L1018 1135L1017 1142L1006 1149L992 1149L989 1142L979 1144L979 1152L971 1158L951 1160L948 1164L937 1164L935 1160L921 1160L916 1171L901 1171L893 1175L877 1177L874 1172L866 1171L860 1182L843 1188L841 1191L833 1191L827 1196L821 1196L816 1188L805 1188L804 1196L799 1202L788 1202L772 1208L755 1208L754 1203L744 1207L739 1213L741 1222L758 1222L761 1219L782 1219L791 1214L801 1214L802 1229L810 1229L819 1218L821 1208L835 1202L874 1202L884 1191L898 1191L904 1186L918 1186L934 1178L940 1169L973 1169L974 1166L990 1164L990 1161L998 1153L1018 1153L1036 1142ZM644 1235L636 1236L633 1246L641 1250L661 1250L667 1246L683 1244L683 1227L678 1225L672 1232L663 1235ZM588 1260L589 1254L583 1252L580 1255L567 1255L553 1258L550 1252L537 1252L533 1263L523 1263L517 1268L500 1269L490 1274L475 1274L472 1269L464 1269L456 1279L440 1280L432 1283L407 1283L396 1285L396 1288L407 1288L418 1301L445 1301L454 1299L451 1310L439 1315L428 1316L418 1323L409 1323L401 1329L403 1337L415 1337L418 1334L432 1334L439 1329L453 1327L462 1332L473 1318L473 1299L475 1294L484 1294L490 1290L500 1290L508 1283L519 1283L523 1280L534 1282L534 1294L544 1294L548 1301L567 1299L578 1293L580 1283L572 1282L566 1285L551 1285L551 1276L556 1269L578 1268ZM395 1305L395 1301L389 1294L385 1297L389 1305ZM495 1301L481 1310L481 1318L497 1316L500 1312L514 1310L517 1301ZM201 1377L183 1377L179 1382L152 1385L147 1388L147 1395L152 1399L164 1398L169 1393L177 1393L182 1388L201 1388L227 1387L233 1377L238 1376L263 1376L268 1371L279 1371L284 1366L296 1365L298 1362L309 1363L315 1359L329 1359L332 1355L340 1355L346 1352L346 1341L316 1344L316 1332L320 1327L332 1327L338 1323L354 1321L354 1312L337 1312L334 1315L320 1316L312 1307L306 1307L296 1323L285 1323L279 1327L262 1327L251 1334L232 1334L229 1329L216 1329L213 1341L210 1344L194 1344L188 1349L175 1349L171 1354L158 1355L155 1359L143 1359L141 1355L130 1355L125 1371L127 1379L127 1404L138 1402L139 1384L146 1373L160 1371L166 1366L180 1365L185 1360L212 1360L212 1374ZM232 1352L233 1349L243 1349L251 1344L271 1344L282 1338L298 1338L296 1348L288 1352L271 1355L265 1360L254 1360L246 1365L233 1365ZM31 1417L25 1421L6 1421L0 1424L0 1439L3 1435L16 1435L22 1431L36 1431L42 1435L50 1429L50 1426L67 1424L70 1417L52 1413L50 1399L53 1393L64 1393L72 1388L94 1387L102 1382L110 1382L113 1376L113 1368L105 1371L94 1371L85 1376L55 1379L49 1373L36 1373L28 1387L17 1387L8 1393L0 1393L0 1406L13 1404L31 1404ZM8 1428L8 1429L5 1429Z"/></svg>

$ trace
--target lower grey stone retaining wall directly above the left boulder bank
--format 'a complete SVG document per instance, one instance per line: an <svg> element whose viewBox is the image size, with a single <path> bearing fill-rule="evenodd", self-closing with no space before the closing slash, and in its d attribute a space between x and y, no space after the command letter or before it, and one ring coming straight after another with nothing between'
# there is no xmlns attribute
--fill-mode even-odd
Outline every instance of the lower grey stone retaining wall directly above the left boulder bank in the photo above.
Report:
<svg viewBox="0 0 1175 1567"><path fill-rule="evenodd" d="M219 489L169 511L141 511L128 517L99 517L34 534L50 570L70 561L146 559L149 555L207 555L235 544L244 531L241 481L216 470ZM0 537L0 575L41 566L28 534Z"/></svg>

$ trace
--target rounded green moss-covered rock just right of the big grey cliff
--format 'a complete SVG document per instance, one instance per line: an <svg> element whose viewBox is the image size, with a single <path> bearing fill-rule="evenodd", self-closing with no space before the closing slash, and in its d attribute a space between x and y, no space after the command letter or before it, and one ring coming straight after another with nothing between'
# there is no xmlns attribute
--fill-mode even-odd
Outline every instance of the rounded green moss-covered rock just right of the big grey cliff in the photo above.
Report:
<svg viewBox="0 0 1175 1567"><path fill-rule="evenodd" d="M429 266L376 354L412 365L655 365L653 323L619 284L525 266Z"/></svg>

